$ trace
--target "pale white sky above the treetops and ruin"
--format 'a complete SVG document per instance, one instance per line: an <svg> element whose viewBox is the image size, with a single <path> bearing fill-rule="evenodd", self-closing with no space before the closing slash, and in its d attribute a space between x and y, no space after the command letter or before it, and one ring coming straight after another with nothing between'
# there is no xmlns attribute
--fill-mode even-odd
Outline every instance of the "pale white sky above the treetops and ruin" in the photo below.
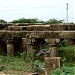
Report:
<svg viewBox="0 0 75 75"><path fill-rule="evenodd" d="M58 19L74 22L75 0L0 0L0 19L12 21L19 18L38 18L40 20Z"/></svg>

